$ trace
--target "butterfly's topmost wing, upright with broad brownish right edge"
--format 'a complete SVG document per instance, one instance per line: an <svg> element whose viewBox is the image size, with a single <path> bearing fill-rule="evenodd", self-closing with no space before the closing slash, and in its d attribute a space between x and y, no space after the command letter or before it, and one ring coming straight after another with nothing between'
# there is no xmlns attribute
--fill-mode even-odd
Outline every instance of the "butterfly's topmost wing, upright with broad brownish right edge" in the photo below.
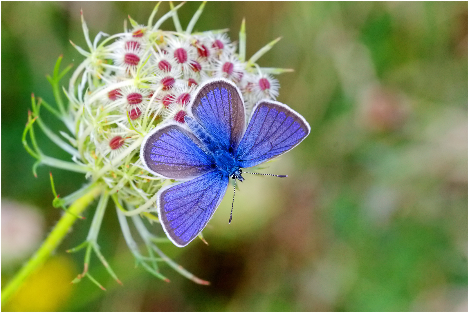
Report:
<svg viewBox="0 0 469 313"><path fill-rule="evenodd" d="M234 150L245 128L244 102L233 82L217 78L196 91L189 112L222 149Z"/></svg>

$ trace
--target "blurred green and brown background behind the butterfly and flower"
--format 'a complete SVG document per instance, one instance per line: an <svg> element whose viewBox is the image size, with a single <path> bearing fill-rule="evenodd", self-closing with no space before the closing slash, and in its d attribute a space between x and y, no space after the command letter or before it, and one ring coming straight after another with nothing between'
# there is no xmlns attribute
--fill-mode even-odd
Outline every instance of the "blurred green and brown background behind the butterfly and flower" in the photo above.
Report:
<svg viewBox="0 0 469 313"><path fill-rule="evenodd" d="M45 74L59 54L64 66L83 60L68 42L86 46L81 7L94 37L121 32L127 15L146 23L154 5L1 3L2 287L62 214L52 207L51 168L35 179L21 144L30 93L53 102ZM183 27L199 5L180 9ZM162 3L157 17L167 10ZM135 268L111 208L98 243L124 286L96 258L91 273L107 291L86 279L70 285L83 252L65 250L86 237L91 207L10 310L467 311L467 2L209 2L195 30L229 28L237 40L243 17L248 57L283 37L259 64L295 69L277 76L278 100L311 134L264 171L287 179L246 177L229 227L226 196L204 231L209 246L160 245L212 285L167 266L171 283ZM173 30L172 21L162 28ZM68 158L37 133L46 154ZM52 172L61 195L85 182ZM15 220L25 206L39 217ZM39 231L28 239L21 227ZM22 255L13 239L26 246Z"/></svg>

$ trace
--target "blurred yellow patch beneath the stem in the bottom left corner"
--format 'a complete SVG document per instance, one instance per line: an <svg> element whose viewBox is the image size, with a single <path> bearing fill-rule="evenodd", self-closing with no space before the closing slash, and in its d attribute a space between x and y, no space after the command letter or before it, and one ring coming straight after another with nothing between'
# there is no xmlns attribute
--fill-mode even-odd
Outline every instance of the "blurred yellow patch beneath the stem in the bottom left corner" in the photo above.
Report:
<svg viewBox="0 0 469 313"><path fill-rule="evenodd" d="M8 311L57 311L72 291L74 263L67 256L54 256L30 276L11 298Z"/></svg>

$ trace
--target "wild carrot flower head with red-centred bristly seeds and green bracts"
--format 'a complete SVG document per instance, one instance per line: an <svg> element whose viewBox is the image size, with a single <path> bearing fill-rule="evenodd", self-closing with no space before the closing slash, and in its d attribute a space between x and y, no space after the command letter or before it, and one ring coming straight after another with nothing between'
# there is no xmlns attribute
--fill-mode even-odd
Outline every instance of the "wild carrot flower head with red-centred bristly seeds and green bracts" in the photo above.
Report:
<svg viewBox="0 0 469 313"><path fill-rule="evenodd" d="M76 218L84 209L71 210L76 203L84 203L84 197L90 198L90 194L99 196L87 238L83 244L68 250L85 251L83 272L73 283L87 276L104 289L88 272L91 253L95 253L108 273L121 283L97 243L108 202L112 202L117 211L123 237L137 264L166 282L169 280L160 273L161 262L196 283L209 283L169 259L158 246L169 240L153 235L147 229L148 223L159 223L158 217L153 214L156 211L155 194L166 179L152 176L144 169L139 159L140 145L145 134L160 123L173 119L183 124L195 89L206 80L224 77L233 81L243 93L249 114L259 99L275 100L278 96L280 85L272 75L290 70L259 67L256 63L278 40L246 60L244 21L238 45L230 40L226 29L193 32L205 2L192 17L187 29L182 30L177 15L182 4L172 6L169 12L153 23L158 3L146 25L137 23L129 16L129 29L112 36L99 32L94 40L90 39L82 12L87 48L73 42L71 44L85 59L76 67L67 87L61 87L59 82L72 66L61 71L62 56L57 60L53 75L47 77L53 88L55 106L34 95L31 98L32 111L23 132L23 145L37 159L33 174L37 176L37 167L45 164L84 173L89 180L88 185L73 194L59 197L56 196L51 175L54 207L64 208L68 210L64 216L73 214ZM176 31L161 30L161 24L170 18ZM53 133L41 119L41 108L63 122L65 127L60 134ZM39 127L50 140L68 152L71 160L45 155L37 144L35 127ZM135 234L131 233L129 222L140 239L133 238ZM64 227L61 222L58 225ZM67 225L71 226L70 223ZM55 247L61 238L56 238ZM137 241L143 242L144 246L137 244ZM44 254L42 257L45 260L47 256ZM13 288L10 294L14 291Z"/></svg>

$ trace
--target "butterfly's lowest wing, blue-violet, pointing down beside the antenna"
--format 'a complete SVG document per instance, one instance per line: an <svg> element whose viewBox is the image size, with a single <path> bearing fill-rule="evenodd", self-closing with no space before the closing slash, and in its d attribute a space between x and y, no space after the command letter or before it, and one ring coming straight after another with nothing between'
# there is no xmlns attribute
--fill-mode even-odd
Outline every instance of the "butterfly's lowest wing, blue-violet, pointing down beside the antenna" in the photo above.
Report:
<svg viewBox="0 0 469 313"><path fill-rule="evenodd" d="M227 191L229 178L212 171L159 190L158 217L168 238L186 246L204 229Z"/></svg>

